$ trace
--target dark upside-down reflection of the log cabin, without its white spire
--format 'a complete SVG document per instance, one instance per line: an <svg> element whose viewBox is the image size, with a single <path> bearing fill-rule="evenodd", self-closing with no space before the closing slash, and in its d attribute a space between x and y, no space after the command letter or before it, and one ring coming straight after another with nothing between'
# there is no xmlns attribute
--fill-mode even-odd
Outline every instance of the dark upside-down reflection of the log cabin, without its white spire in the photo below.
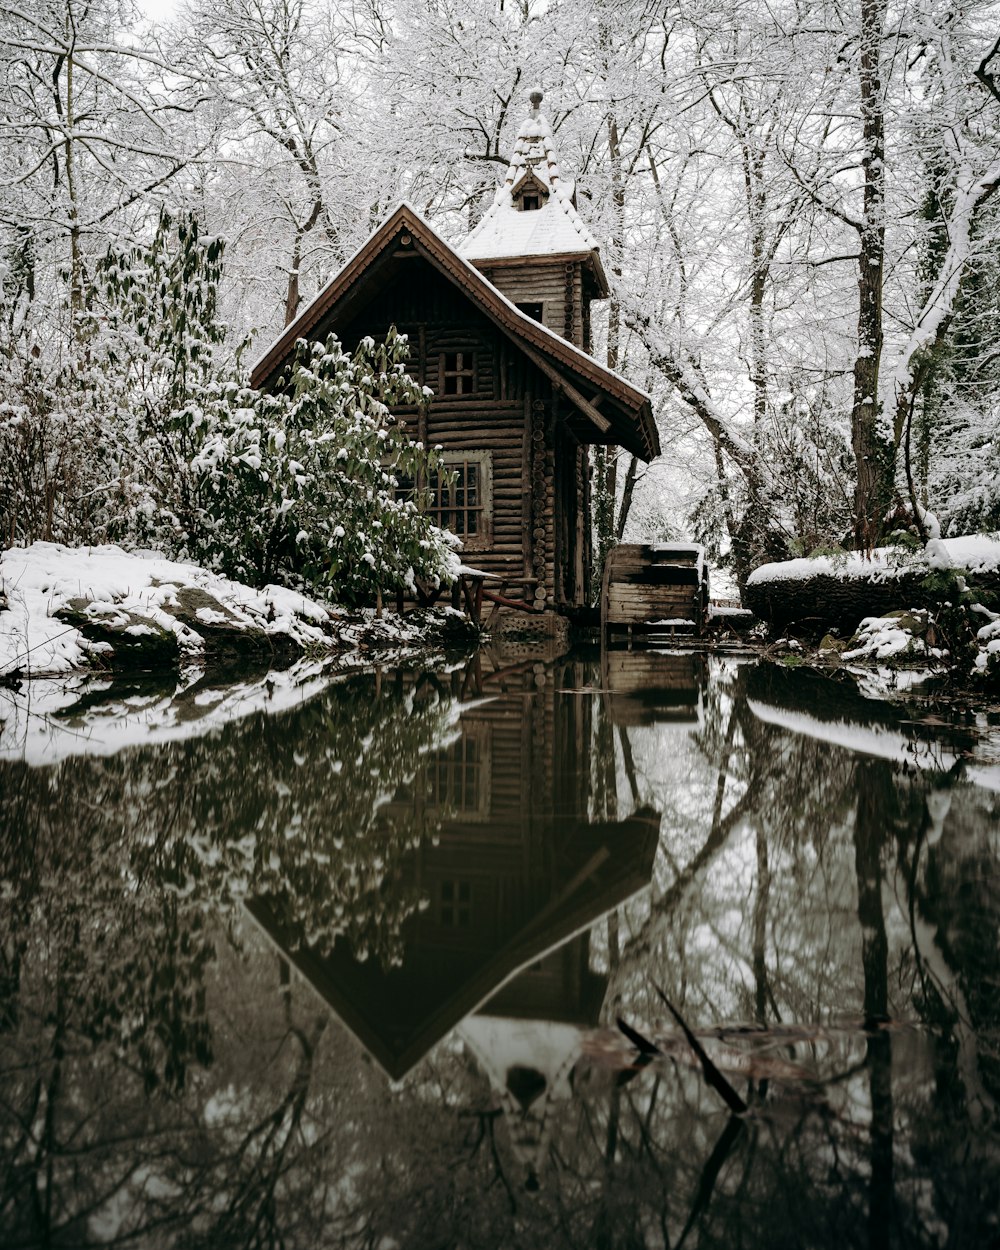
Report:
<svg viewBox="0 0 1000 1250"><path fill-rule="evenodd" d="M250 904L394 1078L488 1001L508 1019L595 1024L606 981L590 968L588 930L649 884L659 816L590 819L594 696L575 692L579 666L540 676L528 665L499 675L382 809L386 820L429 808L440 819L436 845L401 865L429 905L404 922L400 968L359 962L344 939L315 954L281 909ZM482 690L494 694L489 678Z"/></svg>

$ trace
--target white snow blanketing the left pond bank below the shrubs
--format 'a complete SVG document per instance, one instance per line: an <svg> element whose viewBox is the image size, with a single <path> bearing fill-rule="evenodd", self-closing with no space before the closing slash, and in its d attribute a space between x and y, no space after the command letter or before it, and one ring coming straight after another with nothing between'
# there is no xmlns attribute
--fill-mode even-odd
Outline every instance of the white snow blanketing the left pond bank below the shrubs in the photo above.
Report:
<svg viewBox="0 0 1000 1250"><path fill-rule="evenodd" d="M0 611L0 675L15 670L52 675L99 664L110 645L89 641L55 615L81 601L84 614L101 625L136 638L158 631L172 635L181 659L196 664L205 640L179 619L185 590L201 591L219 605L195 610L195 619L206 626L226 624L284 635L302 648L330 639L334 612L281 586L252 590L192 564L129 554L118 546L34 542L0 555L0 596L8 601L6 611Z"/></svg>

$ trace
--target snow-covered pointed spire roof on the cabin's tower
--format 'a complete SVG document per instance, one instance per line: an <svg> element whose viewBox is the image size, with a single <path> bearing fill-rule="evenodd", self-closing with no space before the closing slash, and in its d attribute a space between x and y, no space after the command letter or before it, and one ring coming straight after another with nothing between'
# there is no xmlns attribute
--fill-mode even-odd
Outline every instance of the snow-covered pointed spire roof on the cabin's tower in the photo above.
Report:
<svg viewBox="0 0 1000 1250"><path fill-rule="evenodd" d="M564 256L599 250L572 202L572 182L562 178L551 126L539 111L541 92L531 94L531 111L518 130L514 155L494 201L458 248L466 260L512 260L519 256ZM530 211L518 206L518 192L536 180L541 205Z"/></svg>

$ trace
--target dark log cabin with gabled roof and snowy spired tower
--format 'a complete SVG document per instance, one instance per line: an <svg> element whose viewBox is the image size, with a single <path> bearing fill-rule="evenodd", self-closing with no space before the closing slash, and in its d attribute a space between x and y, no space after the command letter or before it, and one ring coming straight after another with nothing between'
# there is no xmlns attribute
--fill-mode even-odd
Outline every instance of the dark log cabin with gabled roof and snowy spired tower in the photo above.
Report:
<svg viewBox="0 0 1000 1250"><path fill-rule="evenodd" d="M600 249L562 178L541 95L521 124L504 184L481 221L446 242L409 204L372 232L260 358L274 385L301 338L351 350L389 328L409 336L410 374L434 391L401 410L440 445L454 484L432 511L466 564L538 608L591 598L589 448L659 454L649 399L590 352L590 308L609 294Z"/></svg>

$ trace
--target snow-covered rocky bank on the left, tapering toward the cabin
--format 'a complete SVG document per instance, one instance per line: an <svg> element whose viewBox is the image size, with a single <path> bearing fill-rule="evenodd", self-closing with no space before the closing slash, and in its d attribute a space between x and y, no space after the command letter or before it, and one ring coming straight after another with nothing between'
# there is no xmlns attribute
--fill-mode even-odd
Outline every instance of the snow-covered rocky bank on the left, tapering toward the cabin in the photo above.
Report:
<svg viewBox="0 0 1000 1250"><path fill-rule="evenodd" d="M438 635L461 625L435 614ZM418 642L422 619L346 612L281 586L254 590L118 546L35 542L0 555L0 679L86 669L290 662L304 651Z"/></svg>

